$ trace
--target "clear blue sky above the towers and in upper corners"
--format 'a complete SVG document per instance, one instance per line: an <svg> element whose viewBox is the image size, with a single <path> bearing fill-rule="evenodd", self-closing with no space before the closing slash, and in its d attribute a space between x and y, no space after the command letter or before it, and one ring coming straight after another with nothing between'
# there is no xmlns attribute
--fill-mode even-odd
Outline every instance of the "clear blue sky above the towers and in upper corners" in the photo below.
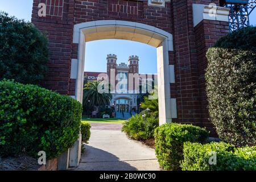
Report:
<svg viewBox="0 0 256 182"><path fill-rule="evenodd" d="M30 20L32 2L32 0L0 0L0 11L6 11L19 19ZM256 10L250 15L250 23L256 25ZM156 73L156 48L127 40L98 40L86 43L85 71L105 72L106 55L109 53L118 56L118 63L127 63L130 55L137 55L140 58L140 73Z"/></svg>

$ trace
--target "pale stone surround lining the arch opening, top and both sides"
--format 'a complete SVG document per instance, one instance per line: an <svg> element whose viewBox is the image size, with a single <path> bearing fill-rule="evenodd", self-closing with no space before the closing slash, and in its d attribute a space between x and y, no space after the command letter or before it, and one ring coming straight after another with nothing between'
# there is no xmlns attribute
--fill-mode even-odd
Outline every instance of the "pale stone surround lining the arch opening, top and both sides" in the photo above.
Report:
<svg viewBox="0 0 256 182"><path fill-rule="evenodd" d="M123 20L97 20L76 24L73 43L78 44L78 59L72 59L71 78L76 79L76 100L82 102L85 42L102 39L123 39L157 48L158 100L160 124L177 117L176 98L171 98L170 84L175 83L174 65L169 65L169 51L174 51L172 34L143 23Z"/></svg>

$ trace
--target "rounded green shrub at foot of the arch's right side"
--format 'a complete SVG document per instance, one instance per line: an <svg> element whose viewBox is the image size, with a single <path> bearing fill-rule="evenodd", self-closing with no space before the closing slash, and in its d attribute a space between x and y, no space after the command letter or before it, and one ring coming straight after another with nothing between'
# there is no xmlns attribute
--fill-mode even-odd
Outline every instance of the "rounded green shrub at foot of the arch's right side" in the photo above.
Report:
<svg viewBox="0 0 256 182"><path fill-rule="evenodd" d="M155 130L155 152L165 170L180 170L184 142L205 142L208 131L192 125L167 123Z"/></svg>

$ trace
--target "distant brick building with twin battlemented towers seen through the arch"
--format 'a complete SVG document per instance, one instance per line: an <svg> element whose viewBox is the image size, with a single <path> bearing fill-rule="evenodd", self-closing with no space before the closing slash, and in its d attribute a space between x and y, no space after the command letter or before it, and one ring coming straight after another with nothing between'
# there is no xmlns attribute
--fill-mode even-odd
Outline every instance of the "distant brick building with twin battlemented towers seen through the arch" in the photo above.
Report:
<svg viewBox="0 0 256 182"><path fill-rule="evenodd" d="M115 90L112 93L113 98L109 106L114 106L117 112L137 111L140 104L137 103L139 94L148 93L154 89L154 81L157 76L155 74L139 74L138 56L130 56L127 65L123 62L118 64L117 55L109 54L106 57L106 62L107 72L84 72L84 82L108 79L111 84L110 80L114 79ZM134 78L133 85L129 85L129 74ZM136 79L138 79L138 85L136 85Z"/></svg>

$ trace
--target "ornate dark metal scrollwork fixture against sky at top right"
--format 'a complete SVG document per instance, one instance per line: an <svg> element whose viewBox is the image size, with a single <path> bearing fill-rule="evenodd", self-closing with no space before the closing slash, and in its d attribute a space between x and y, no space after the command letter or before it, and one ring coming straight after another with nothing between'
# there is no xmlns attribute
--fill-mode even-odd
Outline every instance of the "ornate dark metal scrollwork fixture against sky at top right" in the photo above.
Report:
<svg viewBox="0 0 256 182"><path fill-rule="evenodd" d="M220 5L230 9L231 31L250 26L249 15L256 7L256 0L221 0Z"/></svg>

